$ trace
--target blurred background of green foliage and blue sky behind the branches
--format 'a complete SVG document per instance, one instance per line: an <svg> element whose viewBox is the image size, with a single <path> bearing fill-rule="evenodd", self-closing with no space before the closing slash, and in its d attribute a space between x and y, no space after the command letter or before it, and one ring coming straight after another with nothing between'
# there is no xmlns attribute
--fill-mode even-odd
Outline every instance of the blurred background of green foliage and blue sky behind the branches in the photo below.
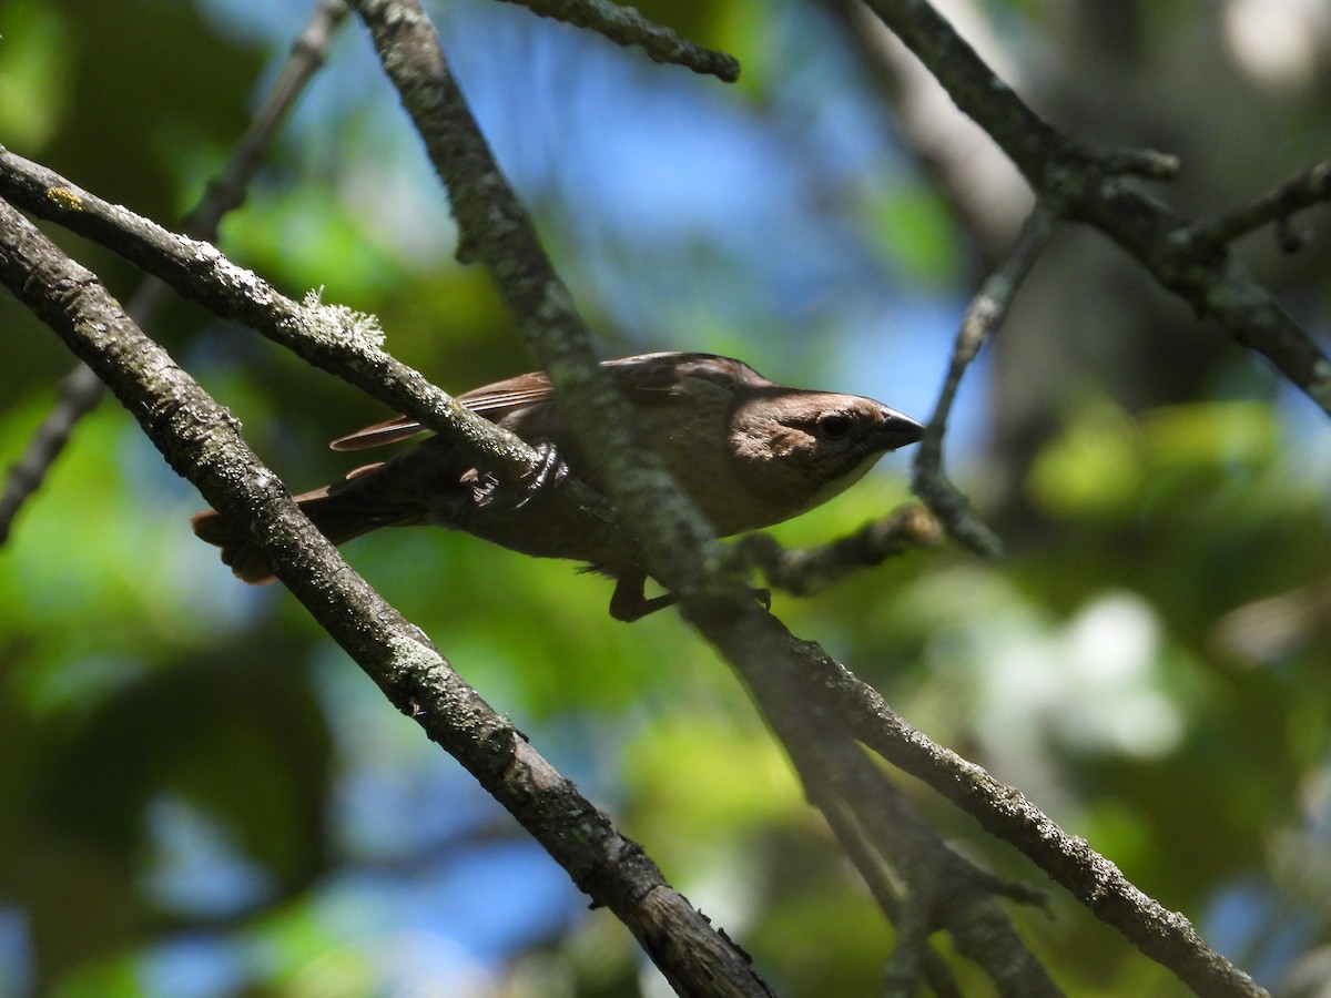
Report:
<svg viewBox="0 0 1331 998"><path fill-rule="evenodd" d="M1029 206L982 136L841 3L642 3L737 55L725 86L522 8L427 5L606 357L743 357L926 418L968 297ZM0 0L0 142L170 225L225 161L306 0ZM1057 125L1175 152L1161 196L1243 204L1328 154L1319 0L986 0L957 23ZM1326 210L1242 244L1328 343ZM138 274L55 233L126 299ZM224 250L375 313L461 391L531 361L454 262L438 184L349 21ZM0 299L0 459L72 358ZM386 415L182 303L150 333L293 488ZM1021 786L1282 994L1331 994L1331 434L1094 232L1066 228L964 389L950 468L1004 535L773 609ZM908 454L777 530L908 496ZM398 716L282 589L236 583L200 498L114 405L0 550L0 995L663 994L628 933ZM673 615L442 531L346 551L755 957L873 994L892 945L784 757ZM902 778L1005 876L1029 865ZM1014 912L1075 995L1181 989L1053 892ZM941 941L946 946L946 941ZM962 966L960 973L966 981Z"/></svg>

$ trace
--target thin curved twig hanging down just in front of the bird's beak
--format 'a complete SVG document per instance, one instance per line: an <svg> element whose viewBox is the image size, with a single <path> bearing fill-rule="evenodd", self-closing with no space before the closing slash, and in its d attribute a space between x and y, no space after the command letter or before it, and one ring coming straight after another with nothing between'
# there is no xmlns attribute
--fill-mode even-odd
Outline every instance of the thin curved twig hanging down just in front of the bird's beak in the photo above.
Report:
<svg viewBox="0 0 1331 998"><path fill-rule="evenodd" d="M1013 298L1036 259L1044 251L1054 232L1057 217L1044 205L1036 205L1026 217L1016 242L998 267L985 279L980 293L970 301L957 342L952 349L952 363L944 379L933 416L925 427L920 450L916 451L913 487L925 504L942 522L948 534L976 554L997 559L1002 556L1002 542L970 508L966 498L948 480L942 467L942 440L948 431L952 406L965 377L980 350L1008 318Z"/></svg>

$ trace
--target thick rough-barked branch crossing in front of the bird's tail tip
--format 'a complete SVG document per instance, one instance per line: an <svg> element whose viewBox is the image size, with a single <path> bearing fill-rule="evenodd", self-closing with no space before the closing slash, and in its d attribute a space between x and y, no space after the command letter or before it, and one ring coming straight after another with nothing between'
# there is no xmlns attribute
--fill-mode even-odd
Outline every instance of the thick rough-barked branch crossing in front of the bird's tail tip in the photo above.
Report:
<svg viewBox="0 0 1331 998"><path fill-rule="evenodd" d="M265 539L278 554L282 582L390 703L458 758L579 889L610 908L681 994L771 994L747 954L666 884L642 848L346 567L226 410L142 334L92 273L3 201L0 282L106 382L180 475Z"/></svg>

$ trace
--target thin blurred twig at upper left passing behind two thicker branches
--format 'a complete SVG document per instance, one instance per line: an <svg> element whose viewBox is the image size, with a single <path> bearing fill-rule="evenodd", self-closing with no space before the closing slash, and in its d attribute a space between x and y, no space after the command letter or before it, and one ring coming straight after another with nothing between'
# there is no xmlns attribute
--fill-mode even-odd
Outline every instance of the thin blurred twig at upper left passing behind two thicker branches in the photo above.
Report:
<svg viewBox="0 0 1331 998"><path fill-rule="evenodd" d="M198 206L186 216L184 229L190 236L212 240L222 217L244 202L245 190L258 169L264 150L305 85L323 64L333 33L346 12L345 0L318 0L309 23L293 43L291 55L281 75L237 140L226 168L209 182ZM168 301L165 290L153 277L140 283L128 307L130 318L140 327L153 323L161 305ZM0 495L0 544L9 539L15 518L28 498L41 487L69 442L75 426L101 403L104 394L101 381L81 363L60 382L55 406L5 476L4 494Z"/></svg>

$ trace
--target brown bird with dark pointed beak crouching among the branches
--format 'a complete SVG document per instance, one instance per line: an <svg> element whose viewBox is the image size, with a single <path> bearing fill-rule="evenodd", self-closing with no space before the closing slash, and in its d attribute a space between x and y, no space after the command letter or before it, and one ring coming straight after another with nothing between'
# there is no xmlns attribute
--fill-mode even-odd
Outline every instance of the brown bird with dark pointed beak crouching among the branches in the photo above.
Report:
<svg viewBox="0 0 1331 998"><path fill-rule="evenodd" d="M639 439L650 446L720 536L769 527L812 510L858 480L888 451L914 443L924 427L858 395L789 389L729 357L659 353L606 361L602 370L628 402ZM534 486L503 499L495 479L449 440L431 436L343 480L295 496L334 544L379 527L435 524L466 528L506 547L544 558L587 562L616 579L610 612L636 620L669 605L667 593L644 599L646 570L636 552L528 506L536 486L571 471L604 492L595 466L559 411L542 371L458 395L458 402L536 446ZM407 416L333 442L354 451L425 430ZM222 548L222 562L248 583L269 582L260 548L217 512L193 518L194 534Z"/></svg>

